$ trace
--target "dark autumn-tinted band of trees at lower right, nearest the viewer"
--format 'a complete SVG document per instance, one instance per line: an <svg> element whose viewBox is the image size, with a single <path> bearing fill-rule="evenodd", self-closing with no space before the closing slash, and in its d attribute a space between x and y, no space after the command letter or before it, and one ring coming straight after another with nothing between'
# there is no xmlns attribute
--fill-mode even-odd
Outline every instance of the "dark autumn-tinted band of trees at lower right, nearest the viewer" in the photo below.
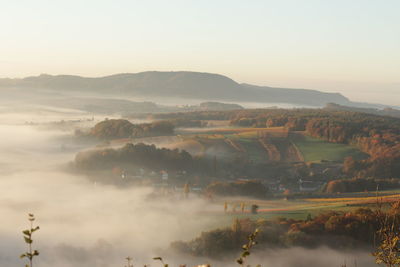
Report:
<svg viewBox="0 0 400 267"><path fill-rule="evenodd" d="M221 258L224 254L238 252L240 244L259 229L257 249L301 246L316 248L368 248L374 240L379 241L376 232L388 214L398 219L398 208L387 213L369 208L359 208L351 212L327 211L303 220L277 218L274 220L236 219L229 228L202 232L190 241L175 241L171 247L193 256ZM398 225L396 220L396 225ZM379 242L378 242L379 243Z"/></svg>

